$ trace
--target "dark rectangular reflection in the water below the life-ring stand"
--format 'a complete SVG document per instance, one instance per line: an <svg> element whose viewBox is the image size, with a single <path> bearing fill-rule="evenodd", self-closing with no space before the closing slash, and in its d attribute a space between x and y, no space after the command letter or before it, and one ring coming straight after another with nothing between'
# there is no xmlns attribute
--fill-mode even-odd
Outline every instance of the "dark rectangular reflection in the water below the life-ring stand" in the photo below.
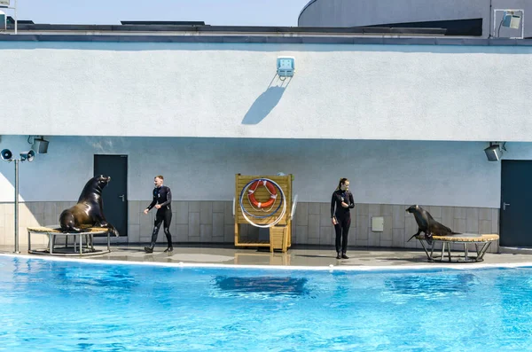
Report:
<svg viewBox="0 0 532 352"><path fill-rule="evenodd" d="M301 296L308 294L305 288L307 278L239 278L215 277L215 286L224 293L241 295L246 293L259 293L268 296Z"/></svg>

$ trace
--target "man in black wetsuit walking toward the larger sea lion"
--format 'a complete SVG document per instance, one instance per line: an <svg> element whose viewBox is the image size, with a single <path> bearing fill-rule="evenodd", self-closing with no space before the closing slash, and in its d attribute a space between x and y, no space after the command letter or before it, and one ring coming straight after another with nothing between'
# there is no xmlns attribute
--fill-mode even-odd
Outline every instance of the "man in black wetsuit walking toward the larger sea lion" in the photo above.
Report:
<svg viewBox="0 0 532 352"><path fill-rule="evenodd" d="M157 214L155 214L155 223L153 225L152 243L150 246L145 246L146 253L153 253L153 247L157 241L157 235L159 234L160 224L164 222L164 234L167 237L168 248L165 252L172 252L174 246L172 246L172 235L170 234L170 222L172 221L172 192L167 186L163 186L164 177L155 176L153 183L155 188L153 189L152 203L145 208L145 214L155 207Z"/></svg>

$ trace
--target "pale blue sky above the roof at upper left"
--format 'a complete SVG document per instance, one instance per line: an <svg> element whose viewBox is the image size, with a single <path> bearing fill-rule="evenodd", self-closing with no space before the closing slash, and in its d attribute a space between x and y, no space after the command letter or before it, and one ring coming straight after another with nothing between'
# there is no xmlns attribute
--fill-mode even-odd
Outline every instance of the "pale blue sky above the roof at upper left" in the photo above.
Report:
<svg viewBox="0 0 532 352"><path fill-rule="evenodd" d="M11 0L12 6L15 0ZM17 0L19 20L118 25L121 20L200 20L212 26L296 27L309 0ZM4 10L13 16L12 10Z"/></svg>

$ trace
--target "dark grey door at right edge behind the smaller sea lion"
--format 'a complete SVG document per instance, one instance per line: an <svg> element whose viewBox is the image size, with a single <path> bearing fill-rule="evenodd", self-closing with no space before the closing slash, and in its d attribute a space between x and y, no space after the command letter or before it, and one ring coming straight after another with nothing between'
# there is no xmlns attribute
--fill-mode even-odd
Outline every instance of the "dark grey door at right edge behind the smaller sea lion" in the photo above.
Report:
<svg viewBox="0 0 532 352"><path fill-rule="evenodd" d="M532 246L532 161L502 160L500 245Z"/></svg>

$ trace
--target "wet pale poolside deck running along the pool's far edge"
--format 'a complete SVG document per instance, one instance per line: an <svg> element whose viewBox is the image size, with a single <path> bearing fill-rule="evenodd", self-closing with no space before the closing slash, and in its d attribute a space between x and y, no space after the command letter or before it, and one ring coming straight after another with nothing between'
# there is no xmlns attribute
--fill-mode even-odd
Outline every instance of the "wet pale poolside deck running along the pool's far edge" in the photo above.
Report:
<svg viewBox="0 0 532 352"><path fill-rule="evenodd" d="M98 246L97 246L98 247ZM88 261L124 261L124 262L158 262L184 264L215 264L215 265L259 265L259 266L291 266L291 267L348 267L371 269L373 267L482 267L491 265L532 265L532 255L523 254L491 254L484 256L483 262L446 263L427 262L423 250L398 249L353 249L348 251L349 259L337 260L334 249L290 249L287 253L273 253L256 249L237 249L231 247L206 246L175 246L174 252L167 254L162 251L165 246L155 248L153 254L146 254L144 246L113 245L111 253L85 257ZM102 249L104 246L102 246ZM27 254L20 248L20 255L33 257L50 257ZM532 250L530 251L532 254ZM0 254L13 254L12 246L0 246ZM54 257L58 258L58 257ZM75 259L69 257L68 260Z"/></svg>

